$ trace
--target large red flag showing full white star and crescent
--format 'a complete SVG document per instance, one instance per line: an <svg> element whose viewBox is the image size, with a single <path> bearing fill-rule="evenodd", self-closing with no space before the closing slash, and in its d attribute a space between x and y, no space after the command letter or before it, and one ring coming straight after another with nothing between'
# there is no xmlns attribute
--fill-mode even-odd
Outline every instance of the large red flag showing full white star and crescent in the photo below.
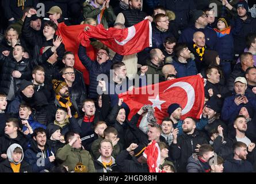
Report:
<svg viewBox="0 0 256 184"><path fill-rule="evenodd" d="M132 93L132 94L131 94ZM155 117L161 124L168 117L167 108L177 103L182 106L182 120L185 117L200 118L204 106L204 83L199 75L186 76L171 81L156 83L119 94L129 106L128 120L145 104L155 109Z"/></svg>

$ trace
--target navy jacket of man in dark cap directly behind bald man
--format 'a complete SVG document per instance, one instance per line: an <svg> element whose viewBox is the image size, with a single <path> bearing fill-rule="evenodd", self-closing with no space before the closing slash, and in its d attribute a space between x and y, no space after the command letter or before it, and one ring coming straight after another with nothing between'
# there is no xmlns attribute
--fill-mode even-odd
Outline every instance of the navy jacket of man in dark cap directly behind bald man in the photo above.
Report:
<svg viewBox="0 0 256 184"><path fill-rule="evenodd" d="M216 47L217 35L215 31L210 28L197 29L194 25L190 26L184 29L181 36L179 37L178 43L193 44L193 34L198 31L205 34L205 45L208 46L207 49L213 50Z"/></svg>

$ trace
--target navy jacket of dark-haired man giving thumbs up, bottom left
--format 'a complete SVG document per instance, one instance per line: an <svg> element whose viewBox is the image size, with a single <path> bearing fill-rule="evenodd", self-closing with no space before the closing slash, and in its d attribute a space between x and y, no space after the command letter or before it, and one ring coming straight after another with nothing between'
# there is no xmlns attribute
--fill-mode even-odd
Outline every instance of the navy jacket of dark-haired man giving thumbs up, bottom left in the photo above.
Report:
<svg viewBox="0 0 256 184"><path fill-rule="evenodd" d="M53 151L54 150L49 147L48 142L45 143L44 150L40 150L37 147L36 141L32 140L30 148L25 151L24 159L32 166L33 173L39 173L42 170L51 170L54 163L50 162L49 156L55 154Z"/></svg>

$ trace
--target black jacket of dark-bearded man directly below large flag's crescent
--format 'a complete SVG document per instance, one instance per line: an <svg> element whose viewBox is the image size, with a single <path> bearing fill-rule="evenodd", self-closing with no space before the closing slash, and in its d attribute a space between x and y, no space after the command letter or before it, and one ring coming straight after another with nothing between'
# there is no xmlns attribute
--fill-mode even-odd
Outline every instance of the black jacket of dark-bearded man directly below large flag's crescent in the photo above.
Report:
<svg viewBox="0 0 256 184"><path fill-rule="evenodd" d="M188 158L195 152L197 144L208 144L205 135L194 131L193 134L183 134L178 136L177 144L172 143L169 148L171 159L175 160L178 172L186 172Z"/></svg>

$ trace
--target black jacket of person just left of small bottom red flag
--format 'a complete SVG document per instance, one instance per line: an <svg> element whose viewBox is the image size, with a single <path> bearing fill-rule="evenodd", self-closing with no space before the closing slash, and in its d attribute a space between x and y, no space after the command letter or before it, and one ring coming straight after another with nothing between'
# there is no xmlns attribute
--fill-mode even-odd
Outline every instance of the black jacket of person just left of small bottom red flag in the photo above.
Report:
<svg viewBox="0 0 256 184"><path fill-rule="evenodd" d="M135 156L132 157L129 155L127 150L122 151L116 157L116 164L119 166L122 173L148 173L147 163L139 163Z"/></svg>

